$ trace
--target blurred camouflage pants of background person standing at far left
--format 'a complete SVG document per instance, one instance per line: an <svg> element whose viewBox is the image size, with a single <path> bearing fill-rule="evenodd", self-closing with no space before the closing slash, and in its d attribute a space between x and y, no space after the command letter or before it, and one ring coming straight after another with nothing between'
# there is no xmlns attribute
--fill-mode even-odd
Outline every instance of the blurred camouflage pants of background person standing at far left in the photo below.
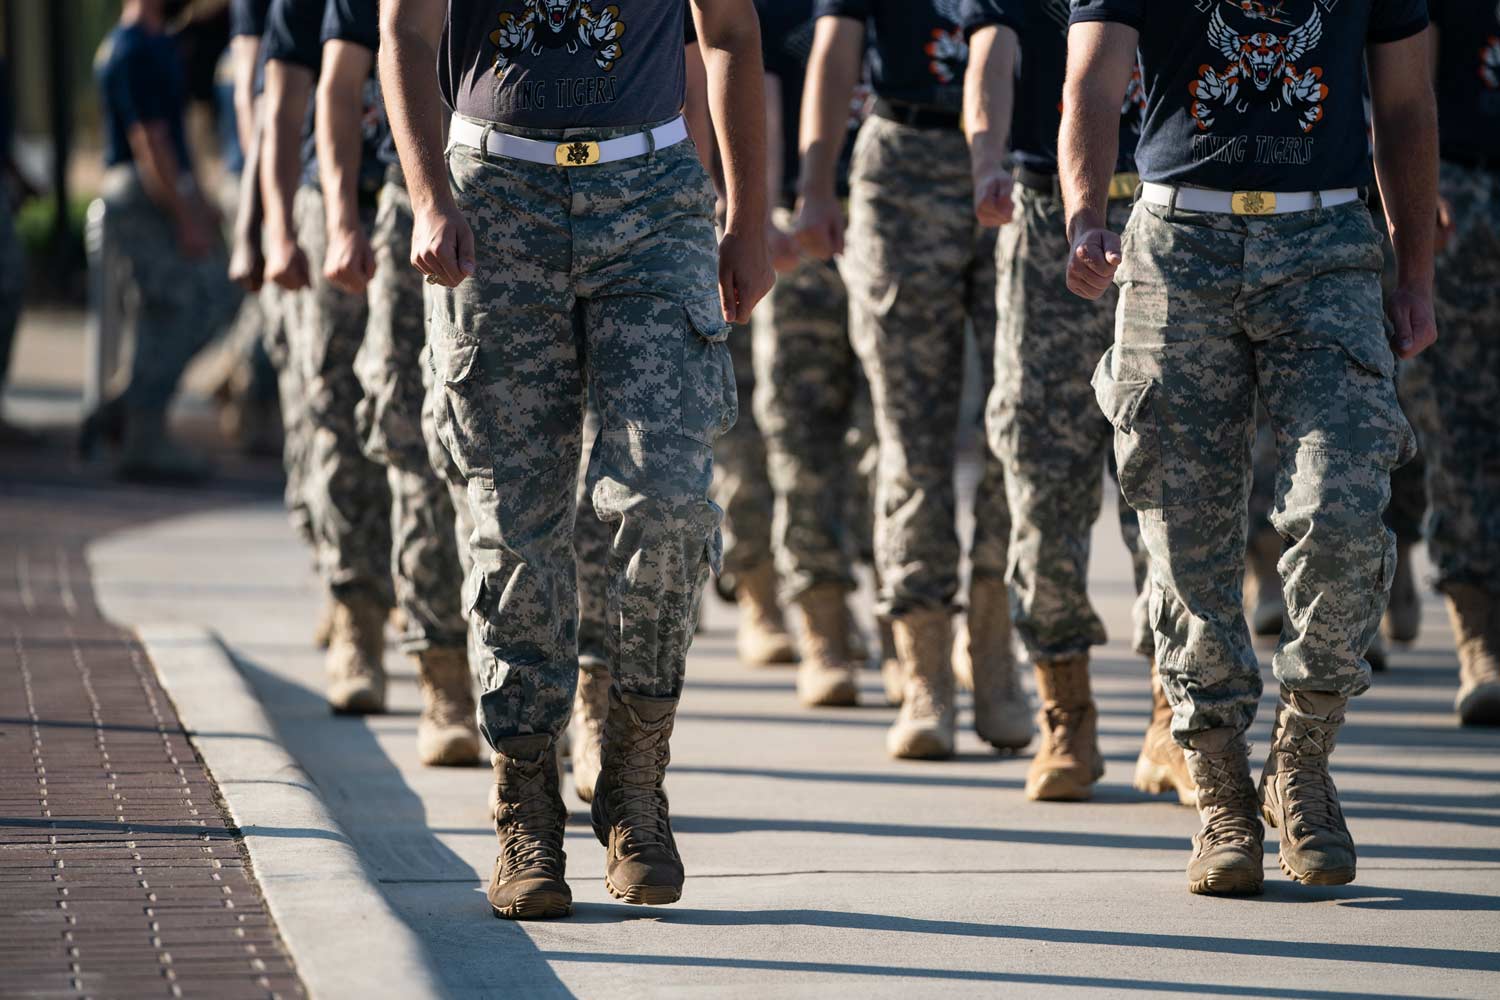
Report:
<svg viewBox="0 0 1500 1000"><path fill-rule="evenodd" d="M150 199L132 166L105 174L110 244L129 262L134 289L130 322L135 352L124 403L146 412L165 411L188 363L224 333L240 304L230 283L222 247L188 259L162 210Z"/></svg>

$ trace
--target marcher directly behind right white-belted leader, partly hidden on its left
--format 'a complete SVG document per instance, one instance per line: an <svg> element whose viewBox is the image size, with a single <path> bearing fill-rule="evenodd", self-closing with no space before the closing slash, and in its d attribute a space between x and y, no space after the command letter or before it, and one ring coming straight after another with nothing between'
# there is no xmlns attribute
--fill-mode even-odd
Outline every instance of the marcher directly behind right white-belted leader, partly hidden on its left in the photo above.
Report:
<svg viewBox="0 0 1500 1000"><path fill-rule="evenodd" d="M1068 241L1058 184L1058 121L1068 57L1068 7L1046 0L964 0L969 33L966 127L974 153L975 213L1000 229L999 327L987 429L1005 468L1011 510L1010 576L1016 630L1030 654L1041 694L1041 748L1026 777L1029 799L1088 799L1104 774L1089 649L1104 622L1089 603L1089 534L1100 516L1101 472L1113 436L1094 405L1089 375L1110 345L1114 295L1089 303L1068 292ZM1020 72L1017 73L1017 31ZM1011 106L1014 103L1014 127ZM1120 150L1108 190L1108 220L1122 226L1136 195L1140 105L1126 96ZM1006 135L1010 141L1006 142ZM1005 163L1016 163L1014 184ZM1122 534L1146 582L1136 514L1119 505ZM1143 601L1136 649L1150 657ZM1152 720L1136 766L1144 792L1192 802L1172 708L1152 670Z"/></svg>

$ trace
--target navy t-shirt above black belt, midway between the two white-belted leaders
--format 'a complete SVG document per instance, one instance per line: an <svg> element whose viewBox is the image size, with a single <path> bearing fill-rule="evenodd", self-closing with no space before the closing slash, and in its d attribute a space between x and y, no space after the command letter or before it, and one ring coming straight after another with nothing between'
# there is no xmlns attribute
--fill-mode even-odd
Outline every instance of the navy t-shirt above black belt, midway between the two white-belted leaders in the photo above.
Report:
<svg viewBox="0 0 1500 1000"><path fill-rule="evenodd" d="M818 0L818 16L870 28L870 85L878 97L958 112L969 43L960 0Z"/></svg>

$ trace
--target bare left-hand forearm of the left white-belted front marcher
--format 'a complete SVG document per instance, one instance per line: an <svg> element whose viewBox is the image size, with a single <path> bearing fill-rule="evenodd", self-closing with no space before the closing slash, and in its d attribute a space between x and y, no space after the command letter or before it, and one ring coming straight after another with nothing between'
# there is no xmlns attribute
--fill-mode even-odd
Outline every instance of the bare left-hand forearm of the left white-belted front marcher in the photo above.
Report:
<svg viewBox="0 0 1500 1000"><path fill-rule="evenodd" d="M404 13L414 16L404 16ZM386 94L406 190L417 207L453 207L442 159L446 109L438 93L436 42L441 6L434 25L432 4L393 0L381 12L380 79Z"/></svg>

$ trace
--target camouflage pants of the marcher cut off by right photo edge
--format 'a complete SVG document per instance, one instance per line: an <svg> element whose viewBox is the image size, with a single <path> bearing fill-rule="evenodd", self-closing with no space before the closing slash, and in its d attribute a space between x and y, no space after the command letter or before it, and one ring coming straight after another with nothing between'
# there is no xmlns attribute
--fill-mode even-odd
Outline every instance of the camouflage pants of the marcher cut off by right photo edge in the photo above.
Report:
<svg viewBox="0 0 1500 1000"><path fill-rule="evenodd" d="M1437 265L1438 343L1418 355L1436 420L1428 553L1437 585L1500 594L1500 175L1443 163L1456 232Z"/></svg>

